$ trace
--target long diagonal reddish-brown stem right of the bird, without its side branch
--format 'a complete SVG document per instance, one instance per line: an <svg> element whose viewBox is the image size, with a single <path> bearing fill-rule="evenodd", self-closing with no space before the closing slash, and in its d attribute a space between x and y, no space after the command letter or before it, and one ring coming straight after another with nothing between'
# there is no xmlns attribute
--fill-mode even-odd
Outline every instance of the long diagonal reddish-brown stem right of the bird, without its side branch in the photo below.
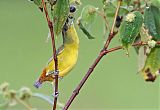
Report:
<svg viewBox="0 0 160 110"><path fill-rule="evenodd" d="M78 95L79 91L81 90L82 86L84 85L84 83L87 81L87 79L89 78L89 76L91 75L91 73L93 72L94 68L97 66L97 64L99 63L99 61L102 59L102 57L106 54L105 51L107 50L110 41L112 40L112 38L115 36L114 33L114 27L115 27L115 23L116 23L116 18L119 12L119 8L121 5L122 0L118 1L118 6L117 6L117 10L115 13L115 17L114 17L114 22L112 25L112 29L110 31L109 37L104 45L104 48L102 49L102 51L99 53L98 57L96 58L96 60L94 61L94 63L91 65L91 67L89 68L89 70L87 71L87 73L85 74L85 76L83 77L83 79L81 80L81 82L79 83L79 85L76 87L76 89L73 91L70 99L68 100L68 102L66 103L65 107L63 108L63 110L67 110L69 108L69 106L72 104L73 100L75 99L75 97Z"/></svg>

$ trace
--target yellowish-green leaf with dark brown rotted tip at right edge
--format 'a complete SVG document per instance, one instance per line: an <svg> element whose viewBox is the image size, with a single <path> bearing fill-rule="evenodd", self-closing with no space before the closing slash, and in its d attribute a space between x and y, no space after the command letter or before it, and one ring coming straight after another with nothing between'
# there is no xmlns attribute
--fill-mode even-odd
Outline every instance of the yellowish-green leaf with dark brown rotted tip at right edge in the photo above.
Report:
<svg viewBox="0 0 160 110"><path fill-rule="evenodd" d="M160 47L151 49L145 65L140 71L146 81L154 81L160 72Z"/></svg>

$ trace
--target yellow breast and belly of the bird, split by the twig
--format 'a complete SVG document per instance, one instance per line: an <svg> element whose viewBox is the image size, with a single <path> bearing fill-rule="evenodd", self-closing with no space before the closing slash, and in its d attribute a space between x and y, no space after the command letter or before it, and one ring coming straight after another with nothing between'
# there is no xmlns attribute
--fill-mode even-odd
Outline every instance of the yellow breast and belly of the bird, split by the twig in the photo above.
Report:
<svg viewBox="0 0 160 110"><path fill-rule="evenodd" d="M77 62L79 39L73 25L66 31L64 41L64 48L57 56L60 77L69 73ZM50 73L51 71L54 71L54 65L55 63L52 59L46 67L46 72Z"/></svg>

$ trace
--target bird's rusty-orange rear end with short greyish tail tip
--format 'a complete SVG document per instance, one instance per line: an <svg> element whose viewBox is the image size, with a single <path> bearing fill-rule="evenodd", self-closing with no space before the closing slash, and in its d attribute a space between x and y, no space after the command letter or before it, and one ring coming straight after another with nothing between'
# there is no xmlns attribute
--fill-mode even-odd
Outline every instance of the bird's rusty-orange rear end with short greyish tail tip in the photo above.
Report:
<svg viewBox="0 0 160 110"><path fill-rule="evenodd" d="M47 72L46 72L46 68L44 68L43 71L42 71L42 73L41 73L41 75L40 75L40 77L39 77L38 80L34 83L34 86L35 86L36 88L39 88L39 87L43 84L43 82L46 82L46 81L51 82L51 81L54 80L52 74L46 75L46 73L47 73Z"/></svg>

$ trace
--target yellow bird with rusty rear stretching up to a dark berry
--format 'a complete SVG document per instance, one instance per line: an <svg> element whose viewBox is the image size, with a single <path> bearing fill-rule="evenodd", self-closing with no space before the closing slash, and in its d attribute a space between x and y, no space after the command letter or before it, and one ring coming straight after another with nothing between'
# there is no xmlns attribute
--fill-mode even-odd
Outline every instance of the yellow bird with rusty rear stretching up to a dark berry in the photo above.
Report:
<svg viewBox="0 0 160 110"><path fill-rule="evenodd" d="M71 14L68 16L62 29L63 44L57 50L59 78L66 76L74 68L78 59L79 38L73 23L73 13L75 11L75 7L71 6ZM55 62L53 57L51 57L34 86L39 88L43 82L53 82L54 71Z"/></svg>

